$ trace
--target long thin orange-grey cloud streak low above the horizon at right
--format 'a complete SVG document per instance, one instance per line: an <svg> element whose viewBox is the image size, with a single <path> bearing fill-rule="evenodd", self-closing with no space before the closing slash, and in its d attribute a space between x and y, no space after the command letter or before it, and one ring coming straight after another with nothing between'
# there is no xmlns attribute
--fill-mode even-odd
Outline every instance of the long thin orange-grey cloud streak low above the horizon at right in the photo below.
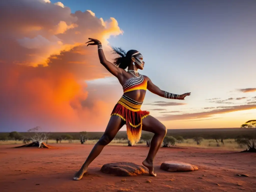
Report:
<svg viewBox="0 0 256 192"><path fill-rule="evenodd" d="M222 109L215 109L206 112L199 112L199 113L187 113L187 114L180 114L180 115L165 115L160 116L157 119L160 121L170 121L170 120L182 120L182 119L200 119L200 118L207 118L211 117L216 114L223 114L229 113L234 111L242 111L242 110L249 110L249 109L256 109L256 104L254 105L237 105L237 106L227 106Z"/></svg>

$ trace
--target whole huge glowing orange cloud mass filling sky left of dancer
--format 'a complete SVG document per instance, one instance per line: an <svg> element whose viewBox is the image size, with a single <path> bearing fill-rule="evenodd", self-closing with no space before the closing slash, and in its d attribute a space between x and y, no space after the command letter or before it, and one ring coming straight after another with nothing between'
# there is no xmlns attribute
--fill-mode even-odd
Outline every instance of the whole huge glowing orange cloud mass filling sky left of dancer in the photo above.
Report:
<svg viewBox="0 0 256 192"><path fill-rule="evenodd" d="M102 25L91 11L72 14L48 0L1 1L0 16L1 131L37 125L47 131L103 131L119 92L86 84L111 74L100 64L97 47L84 42L101 40L110 60L107 38L122 34L117 21Z"/></svg>

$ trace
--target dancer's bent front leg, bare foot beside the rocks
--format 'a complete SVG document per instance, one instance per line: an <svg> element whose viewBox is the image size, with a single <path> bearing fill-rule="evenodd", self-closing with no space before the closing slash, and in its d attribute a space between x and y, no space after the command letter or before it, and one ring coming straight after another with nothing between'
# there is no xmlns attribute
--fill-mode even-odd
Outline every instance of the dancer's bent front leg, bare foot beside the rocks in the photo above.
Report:
<svg viewBox="0 0 256 192"><path fill-rule="evenodd" d="M154 173L153 162L157 151L162 145L167 129L160 121L149 115L142 120L142 130L154 133L147 158L142 164L148 168L150 175L156 176Z"/></svg>

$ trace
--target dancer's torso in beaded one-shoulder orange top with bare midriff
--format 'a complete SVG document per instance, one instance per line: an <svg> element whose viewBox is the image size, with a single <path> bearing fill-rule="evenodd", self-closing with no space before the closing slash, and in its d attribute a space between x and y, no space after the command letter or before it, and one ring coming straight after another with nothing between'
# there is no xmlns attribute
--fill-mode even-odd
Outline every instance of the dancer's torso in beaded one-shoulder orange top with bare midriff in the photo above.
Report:
<svg viewBox="0 0 256 192"><path fill-rule="evenodd" d="M143 102L147 90L147 77L139 74L139 77L134 75L128 78L123 84L124 95L127 97Z"/></svg>

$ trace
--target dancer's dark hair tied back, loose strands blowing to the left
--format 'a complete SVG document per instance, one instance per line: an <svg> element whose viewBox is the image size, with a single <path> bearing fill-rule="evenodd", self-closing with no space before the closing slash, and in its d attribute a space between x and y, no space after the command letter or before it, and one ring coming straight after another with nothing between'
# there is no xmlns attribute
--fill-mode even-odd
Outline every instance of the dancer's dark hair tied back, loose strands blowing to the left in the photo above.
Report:
<svg viewBox="0 0 256 192"><path fill-rule="evenodd" d="M114 59L114 65L121 69L126 69L130 65L132 54L138 52L137 50L129 50L126 53L120 47L119 48L113 47L112 49L113 49L113 54L118 54L120 56Z"/></svg>

